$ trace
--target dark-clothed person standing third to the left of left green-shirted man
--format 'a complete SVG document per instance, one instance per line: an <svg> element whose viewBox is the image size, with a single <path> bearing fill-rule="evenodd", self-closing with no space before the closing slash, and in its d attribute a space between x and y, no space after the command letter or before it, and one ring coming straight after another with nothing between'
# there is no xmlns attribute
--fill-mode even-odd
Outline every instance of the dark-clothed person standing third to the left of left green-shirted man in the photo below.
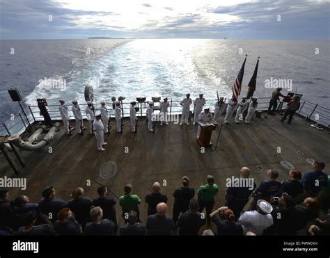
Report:
<svg viewBox="0 0 330 258"><path fill-rule="evenodd" d="M44 213L49 220L54 223L57 219L57 213L61 209L67 207L67 202L63 201L62 199L55 197L56 190L53 186L47 186L42 191L42 196L44 197L40 200L38 207L40 212Z"/></svg>

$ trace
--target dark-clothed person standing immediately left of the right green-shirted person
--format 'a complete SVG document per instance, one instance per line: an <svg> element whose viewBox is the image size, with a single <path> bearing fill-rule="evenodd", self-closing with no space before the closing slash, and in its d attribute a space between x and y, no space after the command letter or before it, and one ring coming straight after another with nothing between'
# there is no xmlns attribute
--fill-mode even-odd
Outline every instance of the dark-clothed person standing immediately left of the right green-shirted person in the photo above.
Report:
<svg viewBox="0 0 330 258"><path fill-rule="evenodd" d="M195 195L195 189L189 187L189 178L182 177L182 186L176 189L173 193L173 221L174 224L178 221L180 213L184 213L189 209L189 202Z"/></svg>

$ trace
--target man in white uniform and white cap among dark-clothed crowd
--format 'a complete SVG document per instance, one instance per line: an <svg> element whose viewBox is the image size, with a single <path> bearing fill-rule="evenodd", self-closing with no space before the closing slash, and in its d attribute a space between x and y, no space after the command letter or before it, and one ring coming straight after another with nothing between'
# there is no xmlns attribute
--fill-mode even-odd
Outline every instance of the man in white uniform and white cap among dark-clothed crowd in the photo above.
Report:
<svg viewBox="0 0 330 258"><path fill-rule="evenodd" d="M270 214L272 211L272 205L265 200L258 200L256 211L245 211L239 217L244 235L251 231L257 236L261 236L267 227L274 225L273 217Z"/></svg>

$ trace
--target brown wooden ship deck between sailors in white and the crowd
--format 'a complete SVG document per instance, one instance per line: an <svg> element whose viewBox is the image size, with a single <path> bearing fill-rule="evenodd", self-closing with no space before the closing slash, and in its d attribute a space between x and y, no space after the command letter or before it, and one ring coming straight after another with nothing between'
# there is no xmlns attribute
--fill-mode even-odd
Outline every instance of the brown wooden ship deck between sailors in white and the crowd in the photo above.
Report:
<svg viewBox="0 0 330 258"><path fill-rule="evenodd" d="M210 147L201 153L196 143L197 126L180 126L169 123L168 126L156 127L155 134L150 134L144 118L140 119L138 134L130 132L129 120L125 119L123 134L116 133L114 121L111 134L106 135L108 145L105 152L98 152L95 137L86 133L81 136L76 130L68 136L61 130L51 142L52 153L45 150L23 152L27 166L20 177L27 178L27 189L13 188L11 197L24 194L31 202L38 202L42 188L53 185L58 197L70 200L72 189L82 186L88 197L97 196L97 182L111 189L116 195L123 195L123 187L132 183L133 191L141 197L141 219L146 221L147 205L144 197L150 192L152 182L164 182L163 193L168 196L169 213L173 207L173 191L181 185L181 178L187 175L191 186L198 188L205 184L207 175L213 175L220 191L216 206L224 204L226 178L239 176L242 166L251 168L251 177L256 184L267 178L267 170L274 169L280 174L279 180L288 177L288 169L280 161L288 161L295 168L306 172L311 169L307 158L321 159L330 164L329 131L318 131L308 122L294 117L292 124L281 123L279 115L267 119L253 118L251 124L232 124L223 127L217 150ZM87 122L85 121L85 126ZM219 127L213 131L212 142L217 140ZM128 153L125 153L128 147ZM277 148L281 147L278 157ZM298 154L297 152L304 154ZM117 172L111 179L100 177L100 166L107 161L117 164ZM258 169L261 166L262 169ZM13 177L14 174L3 156L0 157L0 177ZM329 169L326 168L326 171ZM94 179L93 179L94 178ZM91 180L91 186L86 182ZM121 209L117 206L117 218L120 223Z"/></svg>

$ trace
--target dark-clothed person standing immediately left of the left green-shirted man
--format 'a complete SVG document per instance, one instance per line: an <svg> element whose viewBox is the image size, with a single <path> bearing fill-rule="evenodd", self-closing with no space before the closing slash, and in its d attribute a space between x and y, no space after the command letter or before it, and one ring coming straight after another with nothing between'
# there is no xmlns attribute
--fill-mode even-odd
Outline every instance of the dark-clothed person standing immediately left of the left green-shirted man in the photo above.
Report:
<svg viewBox="0 0 330 258"><path fill-rule="evenodd" d="M115 225L117 225L116 218L116 201L111 197L107 197L108 189L105 186L100 186L97 188L97 193L100 197L93 200L93 205L95 207L100 206L103 211L103 218L112 220Z"/></svg>

